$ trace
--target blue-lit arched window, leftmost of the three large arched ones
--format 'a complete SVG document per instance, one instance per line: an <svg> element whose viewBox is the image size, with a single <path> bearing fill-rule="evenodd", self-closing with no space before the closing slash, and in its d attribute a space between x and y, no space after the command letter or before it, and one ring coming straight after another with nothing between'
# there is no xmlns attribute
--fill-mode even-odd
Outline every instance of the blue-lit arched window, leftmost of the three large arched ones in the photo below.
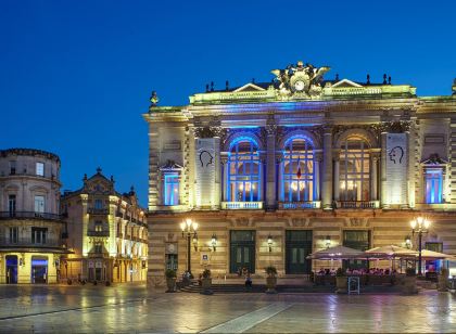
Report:
<svg viewBox="0 0 456 334"><path fill-rule="evenodd" d="M231 145L228 153L228 202L262 201L262 168L258 149L250 139L242 139Z"/></svg>

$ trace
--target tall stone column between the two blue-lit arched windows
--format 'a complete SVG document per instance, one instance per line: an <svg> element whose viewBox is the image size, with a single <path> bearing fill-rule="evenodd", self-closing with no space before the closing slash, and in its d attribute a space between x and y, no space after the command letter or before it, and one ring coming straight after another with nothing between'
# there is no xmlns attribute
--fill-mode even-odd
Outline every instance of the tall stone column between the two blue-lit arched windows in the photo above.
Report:
<svg viewBox="0 0 456 334"><path fill-rule="evenodd" d="M276 207L276 125L266 126L266 198L267 209Z"/></svg>

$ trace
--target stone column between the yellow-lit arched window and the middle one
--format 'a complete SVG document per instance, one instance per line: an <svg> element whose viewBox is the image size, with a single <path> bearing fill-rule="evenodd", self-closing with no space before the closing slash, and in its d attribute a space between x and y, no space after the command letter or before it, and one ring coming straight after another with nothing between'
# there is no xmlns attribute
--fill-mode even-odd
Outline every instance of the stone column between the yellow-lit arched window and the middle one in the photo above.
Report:
<svg viewBox="0 0 456 334"><path fill-rule="evenodd" d="M324 129L322 208L332 208L332 127Z"/></svg>

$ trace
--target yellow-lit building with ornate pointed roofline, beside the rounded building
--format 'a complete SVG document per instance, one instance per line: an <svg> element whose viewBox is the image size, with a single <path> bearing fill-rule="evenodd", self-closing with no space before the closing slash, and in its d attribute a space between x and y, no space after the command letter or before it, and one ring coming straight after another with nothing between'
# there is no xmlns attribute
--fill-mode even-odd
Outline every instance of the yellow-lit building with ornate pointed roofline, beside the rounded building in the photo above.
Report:
<svg viewBox="0 0 456 334"><path fill-rule="evenodd" d="M101 169L84 187L62 196L67 216L67 247L74 254L62 260L63 279L88 282L145 281L148 224L136 193L119 194L114 179Z"/></svg>

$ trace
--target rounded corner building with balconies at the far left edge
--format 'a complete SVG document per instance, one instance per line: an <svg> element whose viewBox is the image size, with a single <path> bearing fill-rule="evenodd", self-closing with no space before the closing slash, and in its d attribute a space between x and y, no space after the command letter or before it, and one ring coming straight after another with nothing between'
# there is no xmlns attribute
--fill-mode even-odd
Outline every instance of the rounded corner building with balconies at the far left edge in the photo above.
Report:
<svg viewBox="0 0 456 334"><path fill-rule="evenodd" d="M59 215L60 158L0 151L0 283L56 283L67 236Z"/></svg>

